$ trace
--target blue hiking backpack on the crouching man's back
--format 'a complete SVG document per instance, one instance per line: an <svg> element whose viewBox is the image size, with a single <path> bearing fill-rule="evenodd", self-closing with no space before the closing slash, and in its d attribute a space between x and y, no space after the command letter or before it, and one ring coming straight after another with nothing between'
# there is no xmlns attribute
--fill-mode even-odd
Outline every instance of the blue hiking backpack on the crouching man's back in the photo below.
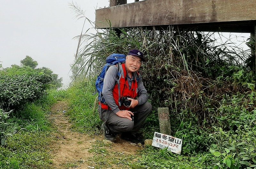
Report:
<svg viewBox="0 0 256 169"><path fill-rule="evenodd" d="M98 100L103 104L106 104L106 101L105 101L104 97L102 96L103 80L104 80L105 74L110 66L117 65L117 69L118 69L117 77L119 77L119 79L117 79L117 83L118 83L121 76L124 76L121 64L125 62L125 57L126 57L126 55L123 55L123 54L115 54L114 53L114 54L109 55L106 58L106 64L103 66L100 74L98 75L98 77L96 79L95 86L96 86L96 90L97 90L96 92L98 92L98 94L99 94Z"/></svg>

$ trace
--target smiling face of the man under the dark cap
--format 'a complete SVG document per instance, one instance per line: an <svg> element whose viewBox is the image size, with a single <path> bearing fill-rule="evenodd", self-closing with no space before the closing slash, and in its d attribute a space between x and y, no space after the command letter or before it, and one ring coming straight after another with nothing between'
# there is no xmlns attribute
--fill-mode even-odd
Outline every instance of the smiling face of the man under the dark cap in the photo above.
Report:
<svg viewBox="0 0 256 169"><path fill-rule="evenodd" d="M127 55L125 66L128 73L135 72L140 69L141 59L138 56Z"/></svg>

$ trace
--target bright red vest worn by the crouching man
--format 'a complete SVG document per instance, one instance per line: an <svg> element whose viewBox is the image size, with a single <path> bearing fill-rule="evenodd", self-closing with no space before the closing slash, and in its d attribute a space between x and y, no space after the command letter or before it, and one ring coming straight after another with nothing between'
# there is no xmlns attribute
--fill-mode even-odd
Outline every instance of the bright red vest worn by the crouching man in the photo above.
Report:
<svg viewBox="0 0 256 169"><path fill-rule="evenodd" d="M121 107L119 106L119 102L118 100L121 99L122 97L129 97L129 98L132 98L132 99L136 99L136 97L138 96L138 83L137 83L137 79L135 77L135 79L132 81L132 86L131 86L131 89L129 90L129 83L128 83L128 80L127 80L127 72L126 72L126 68L125 68L125 63L122 63L122 68L124 70L124 77L121 75L121 78L120 78L120 98L119 98L119 89L118 89L118 83L116 83L116 85L114 86L113 88L113 97L114 97L114 100L116 102L116 105L119 107L120 110L129 110L130 108L128 107L125 107L124 105L121 105ZM137 72L135 72L137 73ZM102 109L105 109L105 110L108 110L111 108L106 105L106 104L103 104L101 103L101 108Z"/></svg>

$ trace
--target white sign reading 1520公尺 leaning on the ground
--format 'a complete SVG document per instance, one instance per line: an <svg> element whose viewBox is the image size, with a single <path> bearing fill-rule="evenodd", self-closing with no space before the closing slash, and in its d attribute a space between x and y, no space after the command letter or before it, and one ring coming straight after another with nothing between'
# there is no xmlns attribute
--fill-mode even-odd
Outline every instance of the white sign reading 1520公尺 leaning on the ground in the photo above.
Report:
<svg viewBox="0 0 256 169"><path fill-rule="evenodd" d="M173 136L155 132L152 146L164 149L167 147L168 151L180 154L182 140Z"/></svg>

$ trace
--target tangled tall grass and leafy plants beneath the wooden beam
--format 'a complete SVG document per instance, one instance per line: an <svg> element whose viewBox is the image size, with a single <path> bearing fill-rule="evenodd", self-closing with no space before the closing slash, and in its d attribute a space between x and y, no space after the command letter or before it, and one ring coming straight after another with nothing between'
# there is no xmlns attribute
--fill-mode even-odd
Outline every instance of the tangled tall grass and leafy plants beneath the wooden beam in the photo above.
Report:
<svg viewBox="0 0 256 169"><path fill-rule="evenodd" d="M146 55L140 75L153 105L147 137L159 127L157 107L169 107L171 135L183 139L183 155L205 154L209 168L256 167L251 51L228 41L216 45L212 33L175 26L116 28L81 39L93 39L80 51L92 79L111 53L137 48Z"/></svg>

